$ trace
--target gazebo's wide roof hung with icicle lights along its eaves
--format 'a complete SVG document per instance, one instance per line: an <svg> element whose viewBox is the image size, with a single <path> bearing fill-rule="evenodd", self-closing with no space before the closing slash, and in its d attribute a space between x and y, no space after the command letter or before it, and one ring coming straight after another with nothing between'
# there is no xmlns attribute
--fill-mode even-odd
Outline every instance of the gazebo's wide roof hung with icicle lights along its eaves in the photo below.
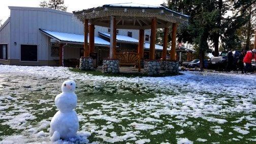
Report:
<svg viewBox="0 0 256 144"><path fill-rule="evenodd" d="M118 29L150 29L152 18L155 18L156 28L170 27L172 23L187 24L189 19L189 16L163 6L135 3L103 5L97 8L73 11L73 14L82 22L88 19L91 24L104 27L110 27L110 18L115 16Z"/></svg>

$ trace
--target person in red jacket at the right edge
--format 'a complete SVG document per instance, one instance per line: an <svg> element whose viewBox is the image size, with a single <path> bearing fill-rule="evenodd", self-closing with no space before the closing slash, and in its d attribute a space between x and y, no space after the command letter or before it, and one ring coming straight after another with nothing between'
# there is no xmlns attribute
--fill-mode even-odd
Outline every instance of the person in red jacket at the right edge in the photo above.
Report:
<svg viewBox="0 0 256 144"><path fill-rule="evenodd" d="M252 69L251 60L253 58L255 58L255 60L256 60L256 49L247 51L247 53L243 59L243 62L245 63L244 73L251 72L251 69Z"/></svg>

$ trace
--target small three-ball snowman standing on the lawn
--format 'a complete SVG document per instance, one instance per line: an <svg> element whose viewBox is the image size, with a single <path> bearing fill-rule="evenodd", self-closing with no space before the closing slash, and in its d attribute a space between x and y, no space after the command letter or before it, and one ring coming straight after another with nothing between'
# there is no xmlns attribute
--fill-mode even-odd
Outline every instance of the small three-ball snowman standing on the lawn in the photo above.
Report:
<svg viewBox="0 0 256 144"><path fill-rule="evenodd" d="M77 96L74 93L76 83L68 80L61 86L62 92L55 97L55 105L58 112L53 116L50 124L50 139L69 140L76 137L79 129L77 113L74 111L77 105Z"/></svg>

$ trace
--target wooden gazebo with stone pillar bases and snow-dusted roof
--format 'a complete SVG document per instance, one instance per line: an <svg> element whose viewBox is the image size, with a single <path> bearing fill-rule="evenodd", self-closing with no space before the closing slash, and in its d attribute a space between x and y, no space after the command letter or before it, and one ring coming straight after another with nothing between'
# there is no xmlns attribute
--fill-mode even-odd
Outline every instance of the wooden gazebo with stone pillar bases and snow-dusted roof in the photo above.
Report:
<svg viewBox="0 0 256 144"><path fill-rule="evenodd" d="M162 60L170 72L178 73L175 61L176 32L178 24L186 23L188 16L169 10L162 6L149 6L134 3L103 5L102 7L74 11L73 14L84 23L84 57L80 61L91 61L89 54L94 52L94 25L110 27L109 59L103 61L103 72L118 73L119 61L116 59L116 29L139 30L139 59L143 59L144 30L151 29L149 59L145 60L144 72L148 75L159 73L161 62L155 60L156 29L164 28L164 45ZM90 24L89 24L90 23ZM170 60L166 59L169 27L172 26L172 43ZM88 45L89 31L89 45ZM170 63L170 64L168 64ZM81 64L81 63L80 63ZM175 67L175 69L174 69Z"/></svg>

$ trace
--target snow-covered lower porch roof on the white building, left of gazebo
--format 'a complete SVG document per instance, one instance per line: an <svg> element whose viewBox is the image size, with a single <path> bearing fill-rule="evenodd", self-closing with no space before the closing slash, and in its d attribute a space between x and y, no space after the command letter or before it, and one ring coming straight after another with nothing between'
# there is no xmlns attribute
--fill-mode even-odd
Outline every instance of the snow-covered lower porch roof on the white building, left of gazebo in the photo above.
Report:
<svg viewBox="0 0 256 144"><path fill-rule="evenodd" d="M57 31L50 31L50 30L45 30L45 29L39 29L39 30L59 42L84 43L84 35L83 34L57 32ZM89 37L88 37L88 41L89 41ZM108 41L105 41L99 37L94 37L94 44L110 46L110 43Z"/></svg>

